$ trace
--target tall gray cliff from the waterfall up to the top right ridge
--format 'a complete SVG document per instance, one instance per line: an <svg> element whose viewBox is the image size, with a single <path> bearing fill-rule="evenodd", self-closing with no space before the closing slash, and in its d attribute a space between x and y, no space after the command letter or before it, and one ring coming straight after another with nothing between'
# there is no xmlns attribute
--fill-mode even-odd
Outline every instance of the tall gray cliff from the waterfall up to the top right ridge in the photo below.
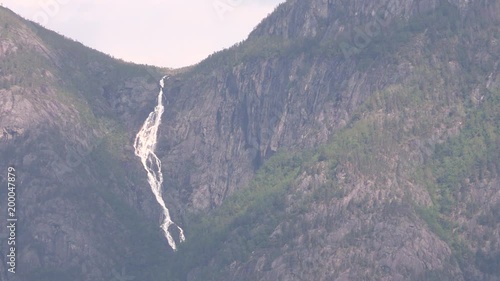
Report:
<svg viewBox="0 0 500 281"><path fill-rule="evenodd" d="M412 41L399 30L408 22L414 30L425 21L455 24L447 18L455 16L471 25L478 17L498 22L498 7L496 1L282 4L246 42L169 85L172 110L162 143L182 187L178 200L194 210L218 206L278 148L327 142L371 93L411 73L406 62L376 61L387 59L384 48L397 51Z"/></svg>

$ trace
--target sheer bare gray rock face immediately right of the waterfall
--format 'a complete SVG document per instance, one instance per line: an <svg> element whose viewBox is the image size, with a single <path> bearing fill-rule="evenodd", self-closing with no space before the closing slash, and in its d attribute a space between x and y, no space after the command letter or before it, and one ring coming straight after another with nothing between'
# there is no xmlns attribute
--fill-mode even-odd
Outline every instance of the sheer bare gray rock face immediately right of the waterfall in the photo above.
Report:
<svg viewBox="0 0 500 281"><path fill-rule="evenodd" d="M355 106L363 86L351 89L354 99L343 100L336 81L345 71L330 76L334 70L327 63L304 69L303 62L298 57L240 64L167 85L159 153L169 174L187 176L176 178L183 202L195 210L220 205L278 148L324 143L345 122L348 110L334 104ZM302 73L311 78L301 79Z"/></svg>

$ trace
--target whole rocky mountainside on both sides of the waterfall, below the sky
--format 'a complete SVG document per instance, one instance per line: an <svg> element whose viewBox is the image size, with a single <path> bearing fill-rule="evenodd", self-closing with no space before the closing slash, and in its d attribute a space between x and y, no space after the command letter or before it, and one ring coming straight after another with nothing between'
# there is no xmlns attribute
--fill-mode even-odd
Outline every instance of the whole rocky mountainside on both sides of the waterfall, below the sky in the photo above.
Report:
<svg viewBox="0 0 500 281"><path fill-rule="evenodd" d="M0 14L9 280L500 280L498 1L290 0L172 72L175 253L131 147L169 71Z"/></svg>

